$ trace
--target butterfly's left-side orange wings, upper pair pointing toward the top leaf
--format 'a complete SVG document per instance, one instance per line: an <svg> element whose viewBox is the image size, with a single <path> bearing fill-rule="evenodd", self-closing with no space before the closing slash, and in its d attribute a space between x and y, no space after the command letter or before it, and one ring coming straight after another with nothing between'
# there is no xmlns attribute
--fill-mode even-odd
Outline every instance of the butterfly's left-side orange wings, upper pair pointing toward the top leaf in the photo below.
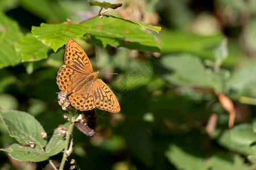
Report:
<svg viewBox="0 0 256 170"><path fill-rule="evenodd" d="M72 39L66 44L64 61L57 73L57 84L65 94L71 94L93 69L84 50Z"/></svg>

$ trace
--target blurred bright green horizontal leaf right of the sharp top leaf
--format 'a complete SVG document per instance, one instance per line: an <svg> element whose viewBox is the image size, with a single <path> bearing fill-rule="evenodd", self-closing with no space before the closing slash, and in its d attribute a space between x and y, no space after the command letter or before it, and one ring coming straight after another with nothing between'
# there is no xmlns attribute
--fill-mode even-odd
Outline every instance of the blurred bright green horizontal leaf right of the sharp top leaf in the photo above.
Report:
<svg viewBox="0 0 256 170"><path fill-rule="evenodd" d="M184 31L162 31L159 34L163 53L192 53L214 59L213 48L221 44L223 35L202 36Z"/></svg>

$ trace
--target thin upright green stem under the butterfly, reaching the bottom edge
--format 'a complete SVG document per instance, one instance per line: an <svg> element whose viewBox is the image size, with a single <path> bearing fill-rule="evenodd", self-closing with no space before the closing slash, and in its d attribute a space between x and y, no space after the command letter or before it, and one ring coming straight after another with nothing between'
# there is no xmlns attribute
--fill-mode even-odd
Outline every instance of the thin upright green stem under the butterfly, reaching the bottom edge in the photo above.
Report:
<svg viewBox="0 0 256 170"><path fill-rule="evenodd" d="M72 113L71 124L69 126L69 129L68 129L67 135L66 135L66 143L65 143L65 148L64 148L64 152L63 152L63 158L61 160L61 164L60 164L60 168L59 168L60 170L63 170L66 158L71 154L71 153L67 154L67 150L68 150L68 145L69 145L69 138L72 134L73 126L75 124L76 110L74 109L74 111L72 111L71 113Z"/></svg>

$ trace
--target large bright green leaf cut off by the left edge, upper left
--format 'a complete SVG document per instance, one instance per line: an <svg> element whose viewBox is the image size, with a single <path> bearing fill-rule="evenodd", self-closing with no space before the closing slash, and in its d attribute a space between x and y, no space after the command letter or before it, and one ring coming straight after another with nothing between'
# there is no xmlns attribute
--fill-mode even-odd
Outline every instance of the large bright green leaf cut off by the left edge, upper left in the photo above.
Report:
<svg viewBox="0 0 256 170"><path fill-rule="evenodd" d="M20 63L21 59L16 55L14 44L22 37L22 32L18 24L2 12L0 12L0 37L0 69Z"/></svg>

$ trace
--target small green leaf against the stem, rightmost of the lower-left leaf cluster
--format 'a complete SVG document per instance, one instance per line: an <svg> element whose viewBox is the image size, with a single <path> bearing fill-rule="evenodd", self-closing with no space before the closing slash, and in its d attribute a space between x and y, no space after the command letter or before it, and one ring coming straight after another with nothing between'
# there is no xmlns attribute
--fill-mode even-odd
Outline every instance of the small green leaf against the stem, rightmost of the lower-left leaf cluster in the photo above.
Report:
<svg viewBox="0 0 256 170"><path fill-rule="evenodd" d="M67 122L63 125L64 128L68 130L70 122ZM59 154L63 151L65 147L65 134L59 134L58 129L56 128L53 132L53 135L46 146L46 152L49 156Z"/></svg>

